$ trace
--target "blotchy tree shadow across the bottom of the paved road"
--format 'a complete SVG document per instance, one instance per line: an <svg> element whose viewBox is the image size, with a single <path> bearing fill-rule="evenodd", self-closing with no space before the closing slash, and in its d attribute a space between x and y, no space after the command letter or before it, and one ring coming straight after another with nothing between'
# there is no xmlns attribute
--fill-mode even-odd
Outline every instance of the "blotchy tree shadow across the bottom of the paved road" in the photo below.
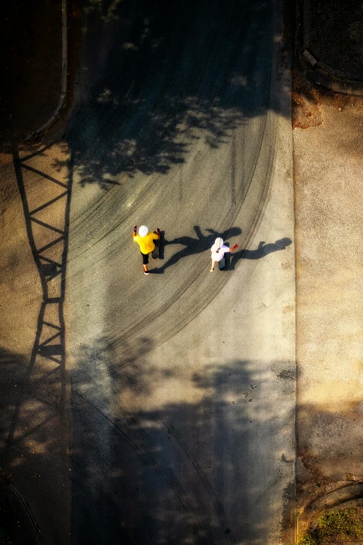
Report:
<svg viewBox="0 0 363 545"><path fill-rule="evenodd" d="M140 343L153 348L152 339ZM102 338L75 355L74 542L232 544L243 536L265 545L269 521L281 519L266 490L286 467L280 453L293 407L278 392L294 389L291 364L274 362L271 372L239 360L186 371L144 354L115 371L109 345ZM193 401L175 396L175 381ZM274 464L275 475L257 471ZM255 503L263 518L250 516Z"/></svg>

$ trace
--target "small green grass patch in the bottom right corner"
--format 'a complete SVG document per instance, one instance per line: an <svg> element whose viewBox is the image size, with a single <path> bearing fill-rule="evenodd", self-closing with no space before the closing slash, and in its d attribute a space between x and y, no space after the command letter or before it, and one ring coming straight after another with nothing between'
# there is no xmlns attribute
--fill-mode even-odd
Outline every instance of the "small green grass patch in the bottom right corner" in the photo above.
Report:
<svg viewBox="0 0 363 545"><path fill-rule="evenodd" d="M363 541L363 507L349 507L318 517L314 528L309 528L299 545L323 545L324 542L344 544Z"/></svg>

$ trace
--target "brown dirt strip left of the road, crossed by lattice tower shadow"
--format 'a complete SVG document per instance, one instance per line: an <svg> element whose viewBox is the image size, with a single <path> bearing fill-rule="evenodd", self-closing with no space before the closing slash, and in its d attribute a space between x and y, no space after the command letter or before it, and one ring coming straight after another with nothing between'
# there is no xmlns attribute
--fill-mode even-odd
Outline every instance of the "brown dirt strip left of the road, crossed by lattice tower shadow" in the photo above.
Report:
<svg viewBox="0 0 363 545"><path fill-rule="evenodd" d="M46 305L42 317L42 282L27 229L33 227L36 251L51 244L58 235L57 231L33 222L32 217L56 229L64 229L65 197L51 204L51 200L64 193L68 180L66 166L57 166L67 164L61 133L59 124L42 143L30 148L15 146L21 159L18 174L13 155L0 154L0 304L4 316L0 332L0 467L12 475L15 487L29 504L49 542L60 545L67 543L70 532L67 369L58 337L47 345L46 351L42 348L41 343L47 341L49 335L61 330L56 305L53 305L54 316L49 310L52 305ZM24 160L33 153L34 158ZM29 170L34 167L35 171ZM24 211L22 206L19 177L24 184L29 211ZM40 211L32 215L38 208ZM53 244L42 255L59 260L62 250L61 245ZM60 275L55 282L59 279ZM51 284L47 282L49 295L56 297L59 282L58 286ZM66 311L63 307L64 316ZM46 323L53 324L50 330ZM55 483L54 489L49 488L49 482ZM58 512L56 520L49 519L49 510L44 510L44 505L51 502L59 505L59 509L54 510Z"/></svg>

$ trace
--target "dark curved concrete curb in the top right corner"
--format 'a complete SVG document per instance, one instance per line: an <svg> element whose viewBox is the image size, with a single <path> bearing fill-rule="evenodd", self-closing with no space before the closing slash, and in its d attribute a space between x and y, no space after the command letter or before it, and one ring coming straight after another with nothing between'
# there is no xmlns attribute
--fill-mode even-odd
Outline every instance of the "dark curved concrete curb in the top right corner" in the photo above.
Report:
<svg viewBox="0 0 363 545"><path fill-rule="evenodd" d="M345 95L363 95L363 74L353 74L318 60L310 47L310 1L303 0L302 60L307 65L307 79L319 86Z"/></svg>

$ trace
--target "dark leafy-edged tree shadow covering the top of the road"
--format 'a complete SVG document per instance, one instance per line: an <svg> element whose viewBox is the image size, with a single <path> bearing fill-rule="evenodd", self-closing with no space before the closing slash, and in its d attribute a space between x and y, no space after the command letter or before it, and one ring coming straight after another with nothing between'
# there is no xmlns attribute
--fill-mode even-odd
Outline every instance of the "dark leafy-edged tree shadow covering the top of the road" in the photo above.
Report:
<svg viewBox="0 0 363 545"><path fill-rule="evenodd" d="M64 137L81 185L165 174L195 141L216 149L280 108L269 104L273 9L272 0L86 2Z"/></svg>

